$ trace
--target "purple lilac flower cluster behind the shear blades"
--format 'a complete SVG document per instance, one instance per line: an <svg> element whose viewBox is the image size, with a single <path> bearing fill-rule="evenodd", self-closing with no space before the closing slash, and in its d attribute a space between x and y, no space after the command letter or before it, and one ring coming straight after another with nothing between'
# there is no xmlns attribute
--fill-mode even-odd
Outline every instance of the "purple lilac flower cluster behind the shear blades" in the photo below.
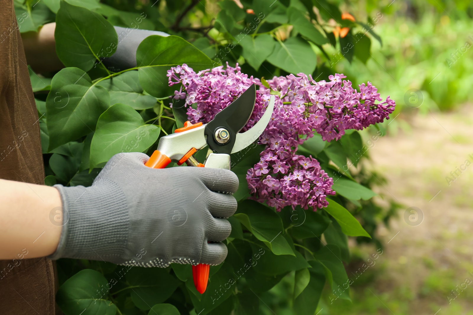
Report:
<svg viewBox="0 0 473 315"><path fill-rule="evenodd" d="M188 118L193 123L209 122L253 83L260 86L256 92L254 112L245 126L251 128L263 115L270 94L276 95L272 119L260 137L266 145L261 158L248 170L246 180L253 198L266 202L280 211L285 206L303 209L326 207L327 195L334 195L333 179L321 169L319 162L298 155L298 145L314 132L326 141L340 139L346 129L363 129L382 122L394 111L395 103L381 101L376 87L359 85L360 92L351 87L345 76L330 76L330 82L315 82L303 73L298 76L274 77L264 82L223 66L195 73L186 65L173 67L167 72L169 85L182 84L175 98L186 99ZM343 84L342 84L343 83ZM185 92L183 92L183 89Z"/></svg>

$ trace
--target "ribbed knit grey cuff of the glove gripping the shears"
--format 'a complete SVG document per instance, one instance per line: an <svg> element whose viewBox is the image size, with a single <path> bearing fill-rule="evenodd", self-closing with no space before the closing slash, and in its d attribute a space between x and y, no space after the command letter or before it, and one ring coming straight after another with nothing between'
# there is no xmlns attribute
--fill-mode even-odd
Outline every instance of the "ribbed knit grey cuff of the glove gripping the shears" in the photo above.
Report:
<svg viewBox="0 0 473 315"><path fill-rule="evenodd" d="M54 187L61 195L63 225L59 245L48 258L114 261L120 257L130 222L122 189L110 179L91 187Z"/></svg>

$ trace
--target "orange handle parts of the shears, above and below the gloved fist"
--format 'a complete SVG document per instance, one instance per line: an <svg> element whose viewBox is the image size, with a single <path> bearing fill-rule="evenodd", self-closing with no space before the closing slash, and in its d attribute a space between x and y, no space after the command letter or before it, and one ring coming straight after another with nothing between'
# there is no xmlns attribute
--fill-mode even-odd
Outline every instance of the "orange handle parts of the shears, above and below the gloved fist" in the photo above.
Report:
<svg viewBox="0 0 473 315"><path fill-rule="evenodd" d="M188 153L191 153L191 151L189 151ZM193 151L193 153L194 152L195 151ZM190 155L192 155L193 153L191 153ZM188 154L184 155L184 157L188 158L187 155ZM170 162L171 159L169 157L156 150L155 152L153 152L148 162L145 163L145 166L148 166L153 169L164 169ZM204 165L202 163L199 163L198 166L203 167ZM205 292L205 289L207 289L207 282L209 281L209 271L210 265L208 264L198 264L196 266L192 266L192 276L194 279L195 289L197 289L197 291L199 291L199 293L201 294Z"/></svg>

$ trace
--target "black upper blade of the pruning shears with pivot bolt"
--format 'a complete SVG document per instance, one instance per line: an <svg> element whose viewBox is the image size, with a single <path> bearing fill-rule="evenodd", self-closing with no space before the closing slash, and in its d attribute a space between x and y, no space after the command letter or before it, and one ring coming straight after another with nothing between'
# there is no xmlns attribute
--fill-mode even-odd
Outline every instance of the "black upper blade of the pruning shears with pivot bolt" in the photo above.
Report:
<svg viewBox="0 0 473 315"><path fill-rule="evenodd" d="M235 144L236 134L245 127L253 113L256 102L256 86L252 84L235 101L220 111L205 127L205 135L210 149L216 153L230 154ZM215 140L215 131L225 128L230 134L227 143L221 144Z"/></svg>

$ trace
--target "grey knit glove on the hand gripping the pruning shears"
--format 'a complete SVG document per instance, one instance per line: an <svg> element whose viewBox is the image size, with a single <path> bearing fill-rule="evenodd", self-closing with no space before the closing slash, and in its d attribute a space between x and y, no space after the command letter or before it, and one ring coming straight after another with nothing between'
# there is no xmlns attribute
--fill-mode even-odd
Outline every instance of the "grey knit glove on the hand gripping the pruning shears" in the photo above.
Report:
<svg viewBox="0 0 473 315"><path fill-rule="evenodd" d="M223 169L151 169L144 153L114 155L91 187L55 185L63 205L52 259L166 267L220 264L236 211L236 175ZM208 243L208 241L210 243Z"/></svg>

